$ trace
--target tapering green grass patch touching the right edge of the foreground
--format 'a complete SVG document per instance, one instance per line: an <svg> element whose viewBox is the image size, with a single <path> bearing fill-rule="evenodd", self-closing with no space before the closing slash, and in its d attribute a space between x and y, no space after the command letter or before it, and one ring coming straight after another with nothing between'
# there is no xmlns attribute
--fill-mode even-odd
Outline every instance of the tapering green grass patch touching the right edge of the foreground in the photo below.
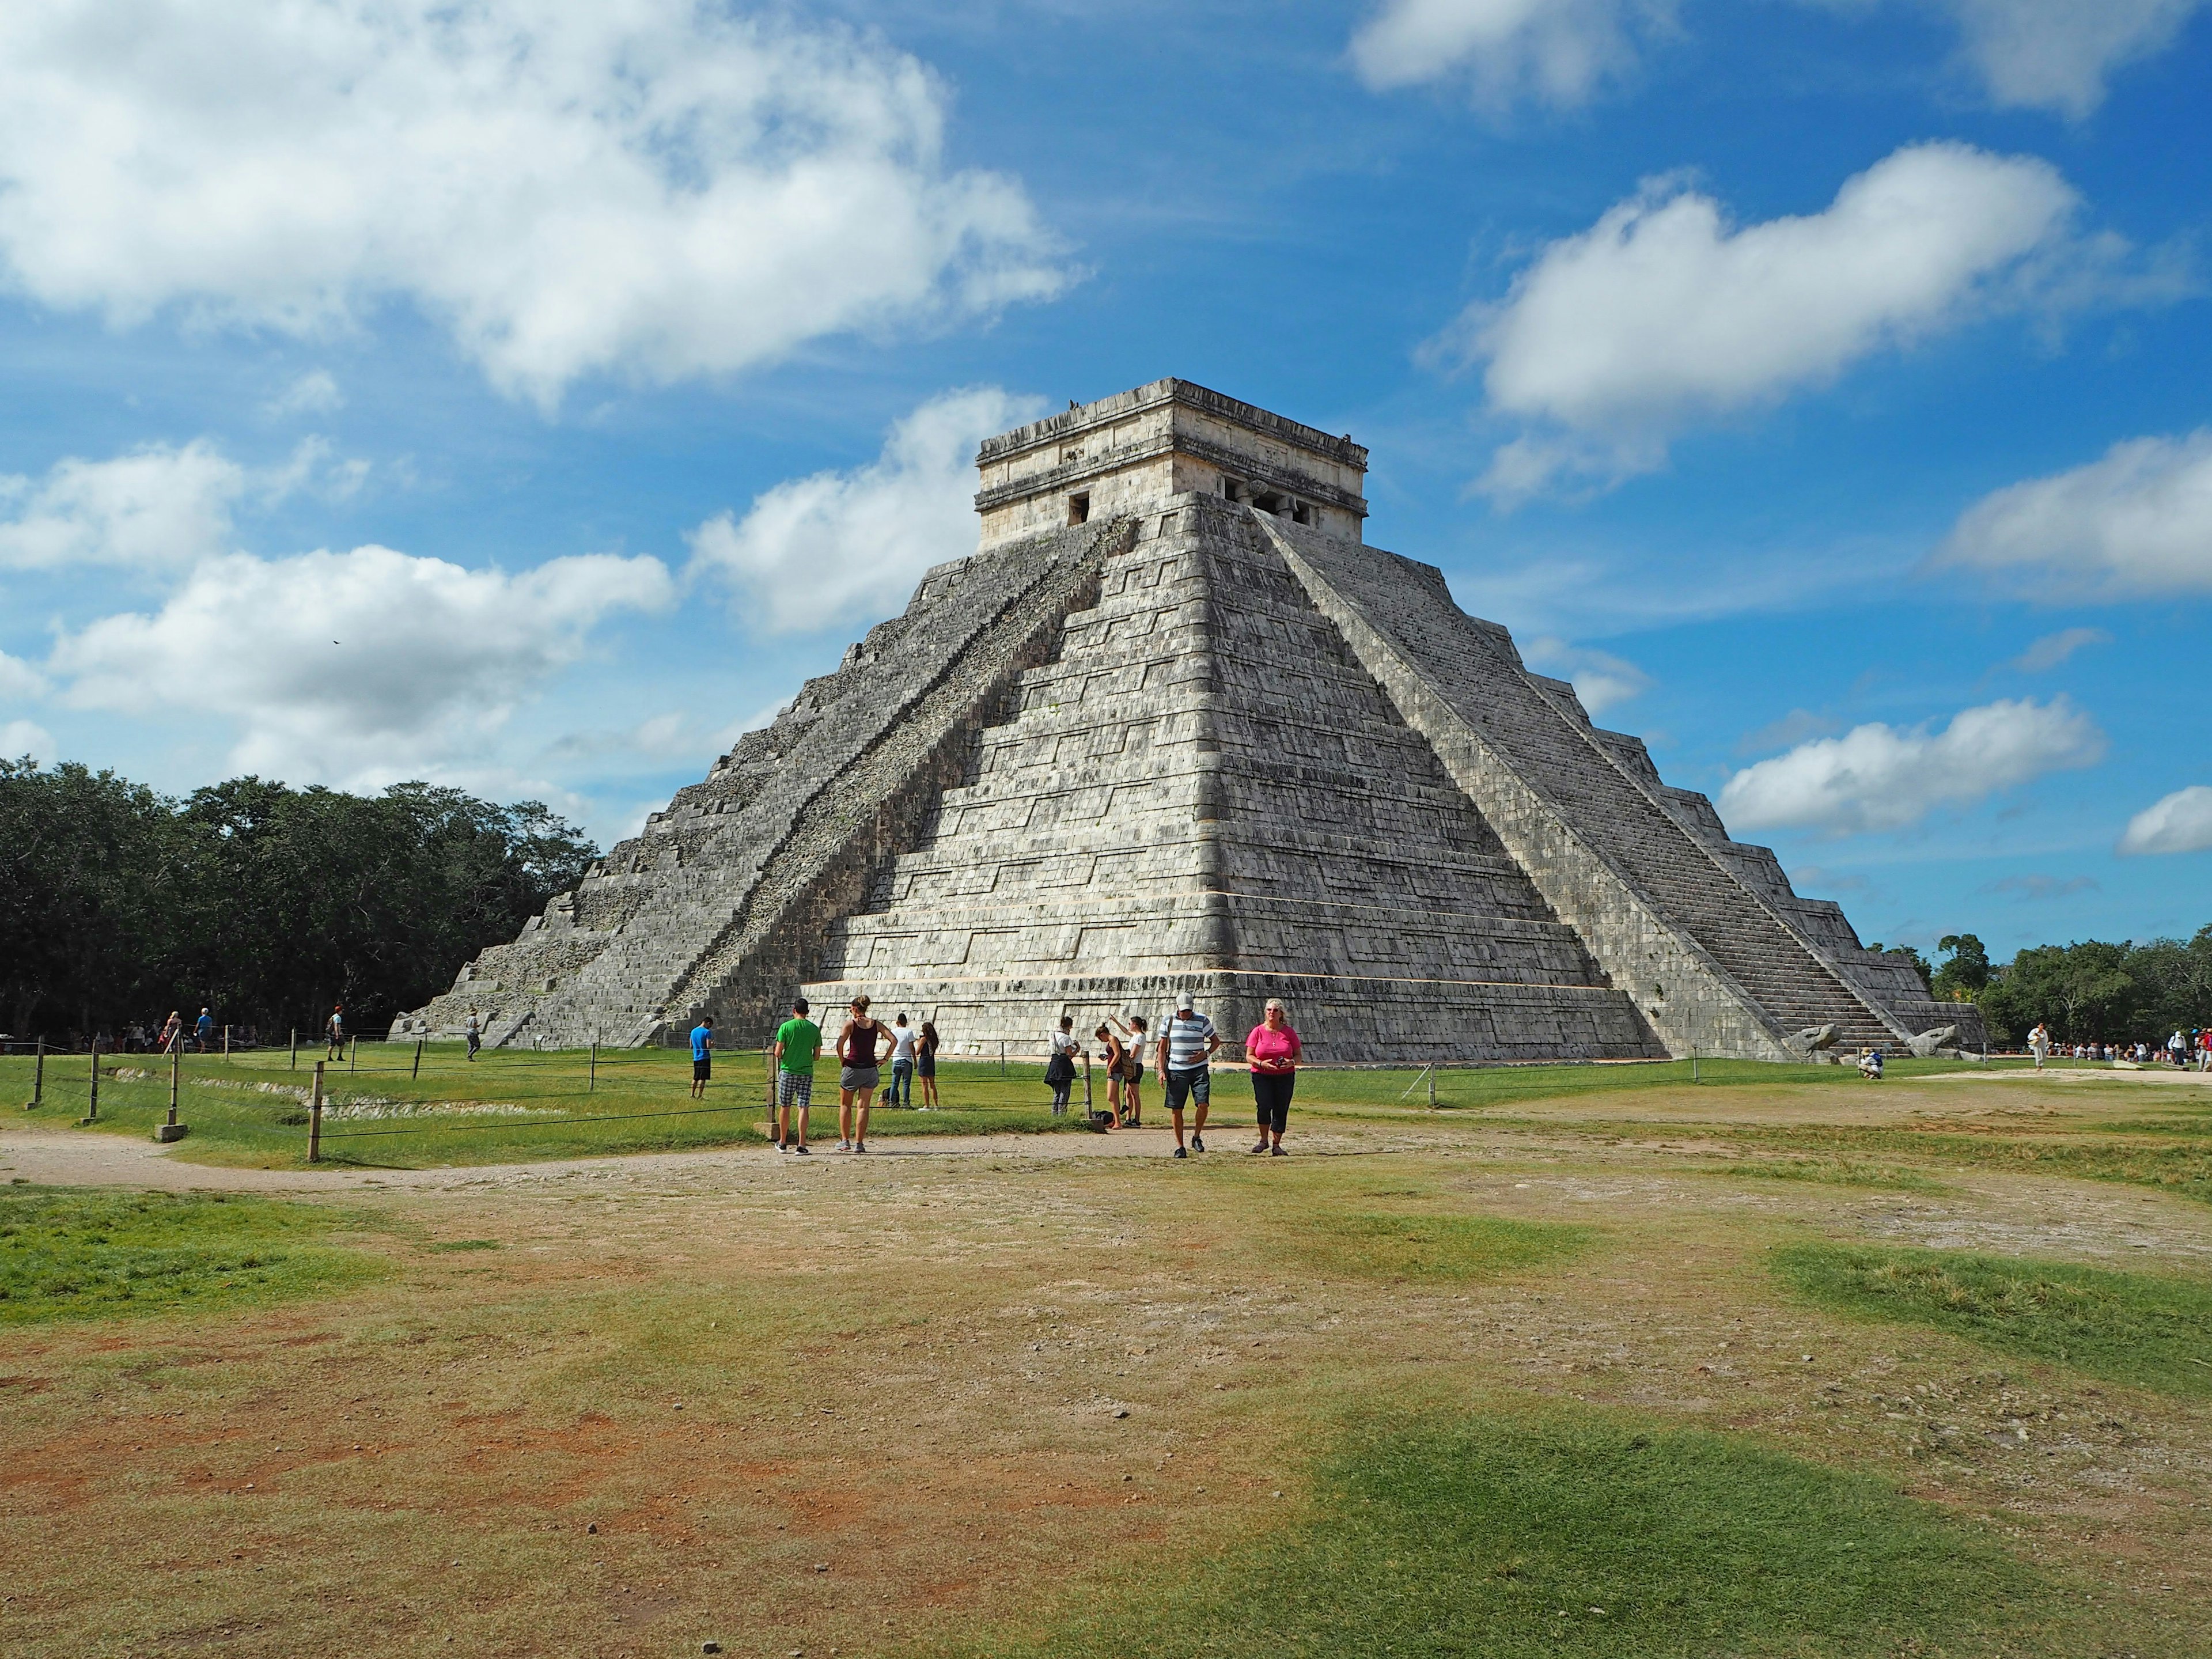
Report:
<svg viewBox="0 0 2212 1659"><path fill-rule="evenodd" d="M2201 1281L1834 1243L1785 1245L1774 1267L1836 1312L1927 1325L2108 1383L2212 1396L2212 1285Z"/></svg>

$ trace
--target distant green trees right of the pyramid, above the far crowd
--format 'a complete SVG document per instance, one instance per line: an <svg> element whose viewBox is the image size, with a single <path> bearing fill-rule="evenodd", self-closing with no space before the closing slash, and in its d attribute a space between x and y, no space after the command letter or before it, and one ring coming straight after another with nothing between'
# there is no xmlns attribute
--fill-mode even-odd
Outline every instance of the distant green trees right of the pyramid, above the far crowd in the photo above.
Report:
<svg viewBox="0 0 2212 1659"><path fill-rule="evenodd" d="M2190 940L2033 945L2002 964L1973 933L1947 933L1936 949L1933 967L1909 945L1887 953L1911 962L1938 998L1978 1004L1995 1044L2024 1044L2037 1022L2055 1042L2152 1046L2212 1026L2212 927Z"/></svg>

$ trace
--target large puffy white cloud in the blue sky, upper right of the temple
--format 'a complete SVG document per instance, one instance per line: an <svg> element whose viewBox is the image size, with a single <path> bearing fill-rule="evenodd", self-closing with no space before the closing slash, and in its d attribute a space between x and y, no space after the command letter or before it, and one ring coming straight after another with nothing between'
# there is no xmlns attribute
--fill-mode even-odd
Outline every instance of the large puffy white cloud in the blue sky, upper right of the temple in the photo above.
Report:
<svg viewBox="0 0 2212 1659"><path fill-rule="evenodd" d="M1489 363L1491 409L1533 425L1484 489L1515 500L1562 476L1657 469L1694 420L2017 301L2051 283L2046 268L2081 263L2077 206L2046 161L1966 144L1896 150L1823 212L1743 228L1710 195L1652 181L1551 243L1447 338Z"/></svg>

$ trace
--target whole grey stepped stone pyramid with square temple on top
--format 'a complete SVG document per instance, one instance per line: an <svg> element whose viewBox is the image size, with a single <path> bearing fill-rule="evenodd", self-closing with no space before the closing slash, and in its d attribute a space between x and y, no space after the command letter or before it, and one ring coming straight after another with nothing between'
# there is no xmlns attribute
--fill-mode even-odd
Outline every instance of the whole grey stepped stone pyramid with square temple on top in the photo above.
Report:
<svg viewBox="0 0 2212 1659"><path fill-rule="evenodd" d="M980 546L396 1037L1042 1053L1281 995L1316 1062L1739 1055L1960 1020L1360 540L1352 438L1155 380L982 445ZM1971 1015L1971 1011L1969 1011ZM1978 1035L1978 1033L1973 1033Z"/></svg>

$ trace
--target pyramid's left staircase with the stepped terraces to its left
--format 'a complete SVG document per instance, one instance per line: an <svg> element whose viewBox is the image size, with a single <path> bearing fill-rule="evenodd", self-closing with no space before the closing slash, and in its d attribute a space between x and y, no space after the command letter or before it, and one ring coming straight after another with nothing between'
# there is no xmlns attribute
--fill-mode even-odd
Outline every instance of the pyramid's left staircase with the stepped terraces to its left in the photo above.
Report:
<svg viewBox="0 0 2212 1659"><path fill-rule="evenodd" d="M1128 533L1086 524L931 571L902 617L394 1037L456 1035L471 1009L489 1044L672 1040L701 1013L763 1024L876 863L920 834L971 732L1057 646L1060 619L1088 604Z"/></svg>

